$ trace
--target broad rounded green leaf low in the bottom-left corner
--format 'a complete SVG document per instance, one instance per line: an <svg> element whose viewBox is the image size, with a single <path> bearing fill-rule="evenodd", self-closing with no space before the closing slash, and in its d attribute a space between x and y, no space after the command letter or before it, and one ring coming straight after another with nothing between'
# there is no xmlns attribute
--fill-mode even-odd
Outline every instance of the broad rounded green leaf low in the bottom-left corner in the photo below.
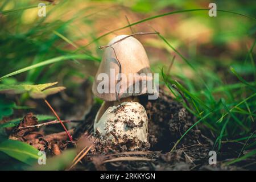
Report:
<svg viewBox="0 0 256 182"><path fill-rule="evenodd" d="M39 158L36 148L18 140L3 140L0 151L28 165L34 164Z"/></svg>

